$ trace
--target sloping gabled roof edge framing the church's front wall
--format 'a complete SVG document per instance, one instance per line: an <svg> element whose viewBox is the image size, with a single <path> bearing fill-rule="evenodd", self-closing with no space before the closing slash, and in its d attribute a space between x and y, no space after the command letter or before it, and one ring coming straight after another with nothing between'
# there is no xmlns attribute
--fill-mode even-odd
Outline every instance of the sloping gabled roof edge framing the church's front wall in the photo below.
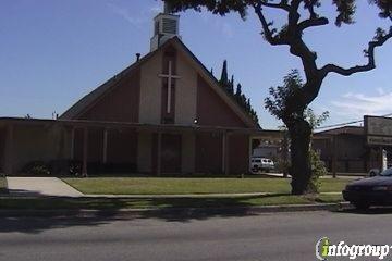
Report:
<svg viewBox="0 0 392 261"><path fill-rule="evenodd" d="M192 53L192 51L177 37L173 37L172 39L168 40L160 48L158 48L154 52L148 53L139 61L130 65L121 73L117 74L108 82L100 85L98 88L96 88L95 90L83 97L73 107L71 107L68 111L65 111L60 116L60 120L75 120L82 112L84 112L87 108L89 108L90 104L95 103L95 101L97 101L98 99L102 98L106 94L108 94L109 90L115 86L115 83L118 83L125 75L139 69L142 64L147 62L157 52L159 52L161 49L168 46L173 46L185 54L184 57L188 59L189 63L193 64L194 69L200 74L200 76L212 87L212 89L218 94L218 96L223 101L225 101L225 103L248 127L259 128L259 126L252 120L252 117L245 112L245 110L242 107L240 107L238 103L221 88L217 78L206 69L206 66L196 58L195 54Z"/></svg>

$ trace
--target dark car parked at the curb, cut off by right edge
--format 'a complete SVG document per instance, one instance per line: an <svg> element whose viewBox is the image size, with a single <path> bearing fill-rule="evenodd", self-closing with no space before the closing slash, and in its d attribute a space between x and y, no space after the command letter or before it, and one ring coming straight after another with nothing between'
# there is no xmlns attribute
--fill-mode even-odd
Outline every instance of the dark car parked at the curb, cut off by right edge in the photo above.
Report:
<svg viewBox="0 0 392 261"><path fill-rule="evenodd" d="M367 177L350 183L342 191L343 198L357 209L370 206L392 204L392 167L378 176Z"/></svg>

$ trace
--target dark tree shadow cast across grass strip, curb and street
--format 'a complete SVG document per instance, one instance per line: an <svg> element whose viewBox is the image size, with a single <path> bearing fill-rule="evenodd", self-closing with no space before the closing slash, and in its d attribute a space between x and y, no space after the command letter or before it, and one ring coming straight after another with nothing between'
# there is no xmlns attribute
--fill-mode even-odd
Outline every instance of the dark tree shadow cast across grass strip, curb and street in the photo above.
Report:
<svg viewBox="0 0 392 261"><path fill-rule="evenodd" d="M286 195L208 199L78 199L21 198L0 199L0 209L12 209L0 216L0 233L39 234L48 229L75 226L101 226L113 221L156 219L163 222L191 222L212 217L253 215L248 201ZM147 211L124 213L122 209L139 208ZM90 210L86 214L86 211ZM23 210L23 212L20 212ZM40 210L40 211L37 211Z"/></svg>

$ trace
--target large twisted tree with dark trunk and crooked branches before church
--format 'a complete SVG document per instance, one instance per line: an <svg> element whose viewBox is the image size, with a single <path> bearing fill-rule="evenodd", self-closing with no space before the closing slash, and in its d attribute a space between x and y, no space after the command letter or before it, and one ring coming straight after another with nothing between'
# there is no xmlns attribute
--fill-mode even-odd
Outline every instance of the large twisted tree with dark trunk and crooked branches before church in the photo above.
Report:
<svg viewBox="0 0 392 261"><path fill-rule="evenodd" d="M313 51L303 38L309 28L317 28L330 23L327 16L320 14L321 0L167 0L172 11L184 11L194 9L201 11L205 8L209 12L225 15L236 12L245 18L250 9L255 12L261 26L265 40L271 46L287 46L290 53L301 59L305 80L301 88L286 96L282 105L280 119L287 126L292 139L291 160L292 169L292 194L302 195L308 186L311 169L307 148L310 142L311 127L304 117L304 111L318 96L324 78L334 73L350 76L355 73L367 72L376 67L375 50L381 47L392 37L392 26L389 32L378 29L375 39L369 41L365 51L367 63L352 67L342 67L335 64L317 65L317 53ZM370 0L369 3L377 4L381 17L391 18L391 0ZM336 7L335 25L354 23L353 16L356 10L356 0L332 0ZM285 22L281 28L273 26L266 17L266 9L280 11L284 14ZM304 11L303 11L304 10ZM275 13L275 12L274 12Z"/></svg>

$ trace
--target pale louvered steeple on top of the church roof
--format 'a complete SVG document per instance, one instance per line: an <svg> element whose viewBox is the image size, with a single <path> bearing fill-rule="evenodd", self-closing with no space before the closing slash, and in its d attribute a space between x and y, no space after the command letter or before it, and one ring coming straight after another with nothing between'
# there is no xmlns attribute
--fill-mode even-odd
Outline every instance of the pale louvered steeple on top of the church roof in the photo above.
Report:
<svg viewBox="0 0 392 261"><path fill-rule="evenodd" d="M164 1L164 11L154 18L154 36L150 42L150 51L157 50L167 40L179 36L180 15L172 14L172 9Z"/></svg>

